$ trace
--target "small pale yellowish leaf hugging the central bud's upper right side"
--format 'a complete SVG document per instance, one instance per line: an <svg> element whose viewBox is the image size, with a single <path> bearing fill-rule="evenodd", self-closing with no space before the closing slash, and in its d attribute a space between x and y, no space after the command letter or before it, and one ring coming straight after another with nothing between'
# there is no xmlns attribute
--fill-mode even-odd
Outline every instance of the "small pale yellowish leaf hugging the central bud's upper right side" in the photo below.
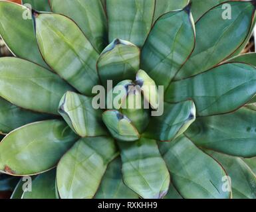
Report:
<svg viewBox="0 0 256 212"><path fill-rule="evenodd" d="M160 97L158 96L158 87L156 87L155 81L144 70L139 70L136 75L136 83L140 86L144 98L150 103L151 107L158 109Z"/></svg>

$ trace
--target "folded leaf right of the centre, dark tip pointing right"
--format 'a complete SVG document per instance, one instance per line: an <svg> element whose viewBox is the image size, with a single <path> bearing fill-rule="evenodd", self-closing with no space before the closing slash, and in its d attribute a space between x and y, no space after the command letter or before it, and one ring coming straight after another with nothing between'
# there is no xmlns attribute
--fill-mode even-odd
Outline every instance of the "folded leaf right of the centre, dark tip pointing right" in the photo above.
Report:
<svg viewBox="0 0 256 212"><path fill-rule="evenodd" d="M195 121L193 101L170 104L164 103L164 114L151 117L143 136L156 140L171 141L185 132Z"/></svg>

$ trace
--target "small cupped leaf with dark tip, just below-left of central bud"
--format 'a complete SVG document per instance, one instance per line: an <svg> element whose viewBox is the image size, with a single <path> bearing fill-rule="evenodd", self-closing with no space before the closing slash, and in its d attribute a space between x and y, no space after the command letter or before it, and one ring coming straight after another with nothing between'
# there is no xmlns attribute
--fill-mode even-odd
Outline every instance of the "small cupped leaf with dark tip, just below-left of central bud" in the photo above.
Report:
<svg viewBox="0 0 256 212"><path fill-rule="evenodd" d="M105 111L102 120L112 136L121 141L134 141L140 138L138 130L130 119L118 111Z"/></svg>

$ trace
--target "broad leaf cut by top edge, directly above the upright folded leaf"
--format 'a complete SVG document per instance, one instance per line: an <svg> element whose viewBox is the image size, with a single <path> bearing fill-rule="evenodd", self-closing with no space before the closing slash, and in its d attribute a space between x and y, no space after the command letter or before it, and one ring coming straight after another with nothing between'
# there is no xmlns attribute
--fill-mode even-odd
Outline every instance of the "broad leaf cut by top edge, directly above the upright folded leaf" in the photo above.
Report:
<svg viewBox="0 0 256 212"><path fill-rule="evenodd" d="M129 40L141 47L151 30L155 0L106 0L108 40Z"/></svg>

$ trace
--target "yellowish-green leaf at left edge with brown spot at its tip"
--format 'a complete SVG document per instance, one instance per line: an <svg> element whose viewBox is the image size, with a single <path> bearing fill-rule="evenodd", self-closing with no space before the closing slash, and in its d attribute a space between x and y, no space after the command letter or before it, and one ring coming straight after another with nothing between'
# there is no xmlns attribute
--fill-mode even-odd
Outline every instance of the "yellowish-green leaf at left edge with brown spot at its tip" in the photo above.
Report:
<svg viewBox="0 0 256 212"><path fill-rule="evenodd" d="M63 121L25 125L7 134L0 143L0 170L14 176L45 172L56 166L76 139Z"/></svg>

